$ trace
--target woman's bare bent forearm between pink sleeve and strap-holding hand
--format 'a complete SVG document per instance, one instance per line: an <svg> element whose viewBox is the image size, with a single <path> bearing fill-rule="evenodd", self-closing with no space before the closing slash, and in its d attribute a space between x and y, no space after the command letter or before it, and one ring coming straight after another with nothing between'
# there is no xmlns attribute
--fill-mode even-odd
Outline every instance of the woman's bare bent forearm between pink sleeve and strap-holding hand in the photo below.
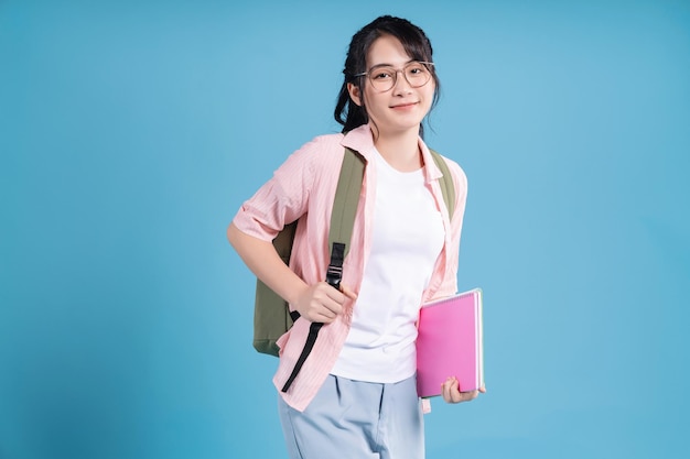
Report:
<svg viewBox="0 0 690 459"><path fill-rule="evenodd" d="M227 238L258 278L288 303L297 303L299 295L308 288L308 285L283 263L271 242L249 236L234 223L228 227Z"/></svg>

